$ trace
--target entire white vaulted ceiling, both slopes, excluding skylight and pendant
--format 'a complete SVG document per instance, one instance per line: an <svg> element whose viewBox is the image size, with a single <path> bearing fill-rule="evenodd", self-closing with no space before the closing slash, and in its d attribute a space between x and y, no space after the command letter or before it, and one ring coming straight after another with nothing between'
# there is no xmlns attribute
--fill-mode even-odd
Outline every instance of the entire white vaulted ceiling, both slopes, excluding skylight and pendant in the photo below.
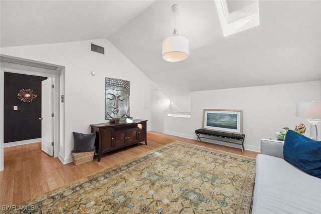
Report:
<svg viewBox="0 0 321 214"><path fill-rule="evenodd" d="M107 38L184 111L191 91L321 79L320 1L259 0L260 25L227 37L214 0L0 4L2 47ZM162 59L174 4L178 33L190 41L179 63Z"/></svg>

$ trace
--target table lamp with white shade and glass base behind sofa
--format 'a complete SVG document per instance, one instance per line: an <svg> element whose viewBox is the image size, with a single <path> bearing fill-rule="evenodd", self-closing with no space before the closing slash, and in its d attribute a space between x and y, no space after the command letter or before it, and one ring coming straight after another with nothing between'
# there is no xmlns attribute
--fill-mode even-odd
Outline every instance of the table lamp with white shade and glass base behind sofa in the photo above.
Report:
<svg viewBox="0 0 321 214"><path fill-rule="evenodd" d="M307 118L311 124L310 138L317 140L316 124L321 121L321 102L297 102L295 115Z"/></svg>

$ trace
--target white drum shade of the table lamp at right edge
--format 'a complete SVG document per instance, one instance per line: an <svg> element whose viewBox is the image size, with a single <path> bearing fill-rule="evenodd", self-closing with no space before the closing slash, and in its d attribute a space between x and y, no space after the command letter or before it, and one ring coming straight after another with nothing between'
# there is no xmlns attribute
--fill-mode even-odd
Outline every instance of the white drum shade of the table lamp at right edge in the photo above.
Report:
<svg viewBox="0 0 321 214"><path fill-rule="evenodd" d="M297 102L296 116L310 119L321 119L321 102Z"/></svg>

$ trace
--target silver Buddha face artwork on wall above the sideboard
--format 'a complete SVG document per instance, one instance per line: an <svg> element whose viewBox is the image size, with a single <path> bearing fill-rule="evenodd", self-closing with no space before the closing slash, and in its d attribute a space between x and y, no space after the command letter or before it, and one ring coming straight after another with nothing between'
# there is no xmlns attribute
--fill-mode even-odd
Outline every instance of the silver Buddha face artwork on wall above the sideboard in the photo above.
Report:
<svg viewBox="0 0 321 214"><path fill-rule="evenodd" d="M129 117L130 82L106 77L105 90L105 119Z"/></svg>

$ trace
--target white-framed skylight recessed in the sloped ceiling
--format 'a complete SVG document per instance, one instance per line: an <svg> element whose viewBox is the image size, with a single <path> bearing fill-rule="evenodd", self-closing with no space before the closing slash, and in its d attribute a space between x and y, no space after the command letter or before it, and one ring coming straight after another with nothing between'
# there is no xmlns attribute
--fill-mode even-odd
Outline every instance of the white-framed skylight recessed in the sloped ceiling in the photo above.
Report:
<svg viewBox="0 0 321 214"><path fill-rule="evenodd" d="M224 37L260 25L258 0L214 0Z"/></svg>

